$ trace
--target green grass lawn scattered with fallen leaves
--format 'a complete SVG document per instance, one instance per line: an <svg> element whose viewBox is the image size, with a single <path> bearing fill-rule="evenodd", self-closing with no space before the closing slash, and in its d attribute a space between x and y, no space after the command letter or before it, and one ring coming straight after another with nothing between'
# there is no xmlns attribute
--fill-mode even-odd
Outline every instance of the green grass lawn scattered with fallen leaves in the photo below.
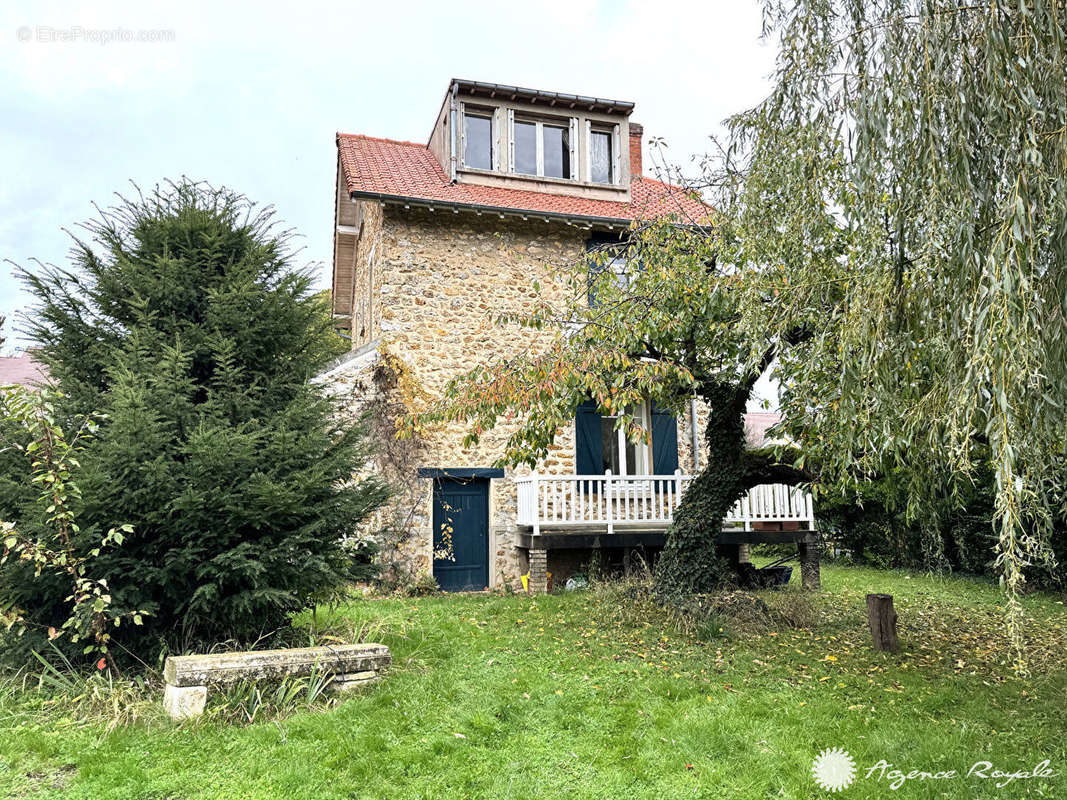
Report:
<svg viewBox="0 0 1067 800"><path fill-rule="evenodd" d="M332 623L368 624L393 650L387 678L324 710L246 725L178 726L153 711L109 732L9 687L0 795L821 798L831 795L812 759L842 747L859 768L842 797L1067 797L1062 598L1026 598L1033 663L1019 679L993 586L844 567L823 577L813 626L753 630L727 618L703 638L611 588L355 599ZM894 595L902 653L871 652L866 591ZM786 607L790 595L768 602ZM1056 774L894 790L888 771L867 777L880 759L960 773L1049 759Z"/></svg>

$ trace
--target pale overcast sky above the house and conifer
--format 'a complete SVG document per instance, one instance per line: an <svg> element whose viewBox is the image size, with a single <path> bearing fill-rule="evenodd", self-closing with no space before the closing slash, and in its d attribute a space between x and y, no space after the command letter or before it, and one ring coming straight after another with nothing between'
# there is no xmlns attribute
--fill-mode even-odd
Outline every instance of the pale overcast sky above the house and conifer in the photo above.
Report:
<svg viewBox="0 0 1067 800"><path fill-rule="evenodd" d="M4 0L0 261L63 262L93 202L188 175L273 204L325 287L336 131L426 141L468 78L632 100L689 163L774 61L757 0L233 5ZM11 352L28 298L0 269Z"/></svg>

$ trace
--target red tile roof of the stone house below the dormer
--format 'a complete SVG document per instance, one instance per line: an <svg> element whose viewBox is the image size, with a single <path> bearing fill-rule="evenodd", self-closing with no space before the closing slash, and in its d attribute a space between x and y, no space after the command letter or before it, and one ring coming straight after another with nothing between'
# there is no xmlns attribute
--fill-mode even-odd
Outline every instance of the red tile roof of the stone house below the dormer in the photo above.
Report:
<svg viewBox="0 0 1067 800"><path fill-rule="evenodd" d="M708 206L669 183L635 177L631 202L590 199L523 189L452 183L425 144L352 133L337 134L337 150L349 193L412 198L449 206L528 211L555 217L612 221L678 214L681 221L706 221Z"/></svg>

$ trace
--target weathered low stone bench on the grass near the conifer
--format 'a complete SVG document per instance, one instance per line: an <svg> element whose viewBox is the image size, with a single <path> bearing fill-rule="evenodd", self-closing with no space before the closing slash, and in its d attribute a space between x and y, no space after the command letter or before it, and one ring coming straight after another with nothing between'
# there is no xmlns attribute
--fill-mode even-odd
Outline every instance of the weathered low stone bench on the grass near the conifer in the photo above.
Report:
<svg viewBox="0 0 1067 800"><path fill-rule="evenodd" d="M392 660L384 644L171 656L163 666L163 707L172 719L198 717L204 713L209 686L312 674L330 676L330 688L343 691L377 681Z"/></svg>

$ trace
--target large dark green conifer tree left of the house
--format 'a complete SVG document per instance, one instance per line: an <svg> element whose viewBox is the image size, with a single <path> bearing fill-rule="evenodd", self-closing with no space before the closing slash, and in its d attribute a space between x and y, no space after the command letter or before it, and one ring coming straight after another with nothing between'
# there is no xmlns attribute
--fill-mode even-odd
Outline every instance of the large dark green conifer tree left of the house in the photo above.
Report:
<svg viewBox="0 0 1067 800"><path fill-rule="evenodd" d="M83 229L69 268L22 272L37 300L28 333L61 415L102 416L80 458L77 516L86 543L114 521L132 526L94 564L116 611L148 611L127 636L249 641L370 576L371 549L346 542L385 490L352 479L365 430L312 381L336 334L288 231L242 195L188 180ZM63 598L31 577L9 567L4 599L44 626Z"/></svg>

